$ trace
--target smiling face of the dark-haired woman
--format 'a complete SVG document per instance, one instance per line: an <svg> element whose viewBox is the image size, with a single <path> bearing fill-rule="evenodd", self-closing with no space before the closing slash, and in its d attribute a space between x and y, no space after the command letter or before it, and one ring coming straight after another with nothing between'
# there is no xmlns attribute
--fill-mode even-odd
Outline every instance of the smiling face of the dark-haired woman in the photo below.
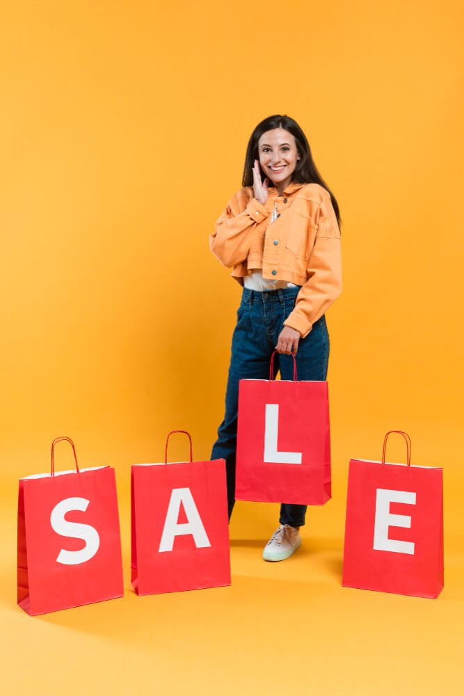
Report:
<svg viewBox="0 0 464 696"><path fill-rule="evenodd" d="M294 136L283 128L273 128L258 141L259 164L279 193L289 185L298 159Z"/></svg>

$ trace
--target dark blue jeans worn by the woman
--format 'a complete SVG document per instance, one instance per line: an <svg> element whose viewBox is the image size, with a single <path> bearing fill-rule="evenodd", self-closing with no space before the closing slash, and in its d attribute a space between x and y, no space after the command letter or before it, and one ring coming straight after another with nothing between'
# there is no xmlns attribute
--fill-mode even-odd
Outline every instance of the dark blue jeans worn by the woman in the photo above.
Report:
<svg viewBox="0 0 464 696"><path fill-rule="evenodd" d="M240 379L269 379L271 354L278 336L295 306L300 287L257 292L243 287L237 310L237 325L232 335L225 416L218 427L218 439L211 459L225 459L227 470L227 502L229 519L235 503L235 457L237 446L237 409ZM300 338L296 353L298 379L323 380L327 377L329 335L324 315L314 322L306 338ZM274 372L280 369L282 379L293 379L293 358L276 353ZM280 506L280 524L302 527L306 505Z"/></svg>

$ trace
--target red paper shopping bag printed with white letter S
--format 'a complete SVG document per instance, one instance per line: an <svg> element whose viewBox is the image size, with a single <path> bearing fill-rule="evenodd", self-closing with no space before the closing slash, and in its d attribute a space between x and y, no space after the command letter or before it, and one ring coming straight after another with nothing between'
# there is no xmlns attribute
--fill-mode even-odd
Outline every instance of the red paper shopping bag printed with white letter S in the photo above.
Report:
<svg viewBox="0 0 464 696"><path fill-rule="evenodd" d="M76 471L54 467L67 440ZM51 443L51 474L19 480L17 602L28 614L121 597L122 558L114 469L79 469L70 438Z"/></svg>

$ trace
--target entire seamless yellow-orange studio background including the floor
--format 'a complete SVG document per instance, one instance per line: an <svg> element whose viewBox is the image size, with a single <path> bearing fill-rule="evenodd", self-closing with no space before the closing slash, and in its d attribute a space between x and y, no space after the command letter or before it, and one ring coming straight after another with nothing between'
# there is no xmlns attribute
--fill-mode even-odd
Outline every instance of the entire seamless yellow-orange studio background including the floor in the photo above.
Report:
<svg viewBox="0 0 464 696"><path fill-rule="evenodd" d="M3 10L3 693L461 693L462 30L457 0ZM301 125L342 212L333 500L280 564L260 559L278 506L238 503L231 587L138 598L129 466L177 428L209 457L240 289L207 237L272 113ZM392 428L444 467L436 601L340 584L348 461L378 459ZM81 466L115 466L126 595L32 619L15 605L17 480L48 470L58 435ZM185 453L179 437L170 459Z"/></svg>

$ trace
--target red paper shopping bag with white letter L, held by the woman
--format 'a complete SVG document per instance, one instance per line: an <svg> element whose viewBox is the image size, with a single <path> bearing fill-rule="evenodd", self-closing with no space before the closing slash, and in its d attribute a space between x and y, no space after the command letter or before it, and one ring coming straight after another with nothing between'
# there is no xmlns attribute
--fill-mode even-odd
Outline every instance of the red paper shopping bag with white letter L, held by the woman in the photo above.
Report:
<svg viewBox="0 0 464 696"><path fill-rule="evenodd" d="M326 381L239 381L235 498L323 505L331 497Z"/></svg>

